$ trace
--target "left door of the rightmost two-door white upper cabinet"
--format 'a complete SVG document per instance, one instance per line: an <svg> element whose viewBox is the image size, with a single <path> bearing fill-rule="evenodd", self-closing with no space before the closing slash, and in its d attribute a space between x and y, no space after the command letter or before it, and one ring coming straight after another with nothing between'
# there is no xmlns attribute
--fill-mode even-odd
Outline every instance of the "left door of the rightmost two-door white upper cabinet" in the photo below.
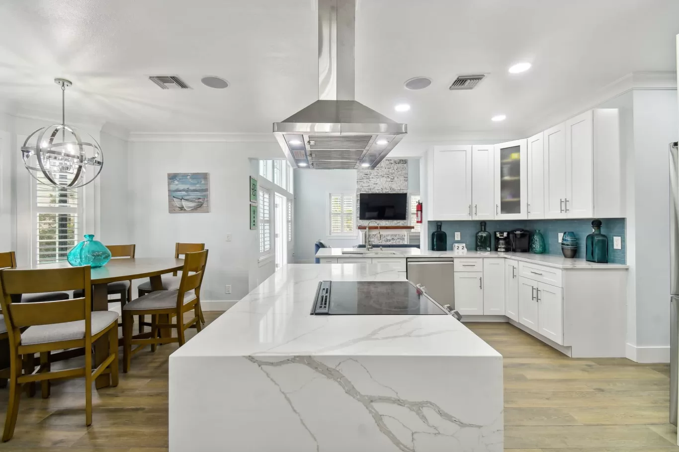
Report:
<svg viewBox="0 0 679 452"><path fill-rule="evenodd" d="M566 218L566 123L543 132L545 218Z"/></svg>

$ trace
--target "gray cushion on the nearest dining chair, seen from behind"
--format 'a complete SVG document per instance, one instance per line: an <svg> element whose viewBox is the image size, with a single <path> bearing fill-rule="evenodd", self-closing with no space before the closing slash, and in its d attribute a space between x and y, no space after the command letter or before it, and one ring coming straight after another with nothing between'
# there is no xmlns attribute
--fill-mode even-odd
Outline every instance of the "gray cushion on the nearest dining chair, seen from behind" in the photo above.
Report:
<svg viewBox="0 0 679 452"><path fill-rule="evenodd" d="M92 335L96 335L96 333L103 331L112 323L117 327L117 312L93 311ZM21 344L29 345L32 343L70 341L71 339L84 339L84 337L85 320L76 320L75 322L29 326L29 329L21 333Z"/></svg>

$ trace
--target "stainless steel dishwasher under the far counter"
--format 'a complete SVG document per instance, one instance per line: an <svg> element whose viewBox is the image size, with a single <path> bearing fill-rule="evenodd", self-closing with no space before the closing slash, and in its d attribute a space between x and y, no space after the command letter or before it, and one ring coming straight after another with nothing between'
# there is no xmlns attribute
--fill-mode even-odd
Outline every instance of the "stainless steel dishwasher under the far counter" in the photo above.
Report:
<svg viewBox="0 0 679 452"><path fill-rule="evenodd" d="M407 259L407 278L413 284L422 284L426 295L439 305L450 305L455 309L455 286L453 278L453 259L432 259L409 257Z"/></svg>

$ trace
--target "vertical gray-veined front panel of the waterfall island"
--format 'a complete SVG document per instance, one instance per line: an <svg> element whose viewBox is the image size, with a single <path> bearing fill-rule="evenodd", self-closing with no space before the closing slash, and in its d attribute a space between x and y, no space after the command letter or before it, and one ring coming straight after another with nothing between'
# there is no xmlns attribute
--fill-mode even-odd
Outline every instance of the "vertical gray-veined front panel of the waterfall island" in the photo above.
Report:
<svg viewBox="0 0 679 452"><path fill-rule="evenodd" d="M170 452L503 447L502 358L170 357Z"/></svg>

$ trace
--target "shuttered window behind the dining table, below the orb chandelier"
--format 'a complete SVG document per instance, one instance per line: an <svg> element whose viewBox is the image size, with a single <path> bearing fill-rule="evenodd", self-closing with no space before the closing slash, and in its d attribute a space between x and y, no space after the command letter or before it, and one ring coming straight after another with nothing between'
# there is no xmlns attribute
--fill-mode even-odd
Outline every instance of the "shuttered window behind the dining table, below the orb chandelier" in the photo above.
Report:
<svg viewBox="0 0 679 452"><path fill-rule="evenodd" d="M39 180L49 183L42 174ZM57 181L59 182L59 181ZM65 262L77 244L80 189L64 189L33 181L35 263Z"/></svg>

